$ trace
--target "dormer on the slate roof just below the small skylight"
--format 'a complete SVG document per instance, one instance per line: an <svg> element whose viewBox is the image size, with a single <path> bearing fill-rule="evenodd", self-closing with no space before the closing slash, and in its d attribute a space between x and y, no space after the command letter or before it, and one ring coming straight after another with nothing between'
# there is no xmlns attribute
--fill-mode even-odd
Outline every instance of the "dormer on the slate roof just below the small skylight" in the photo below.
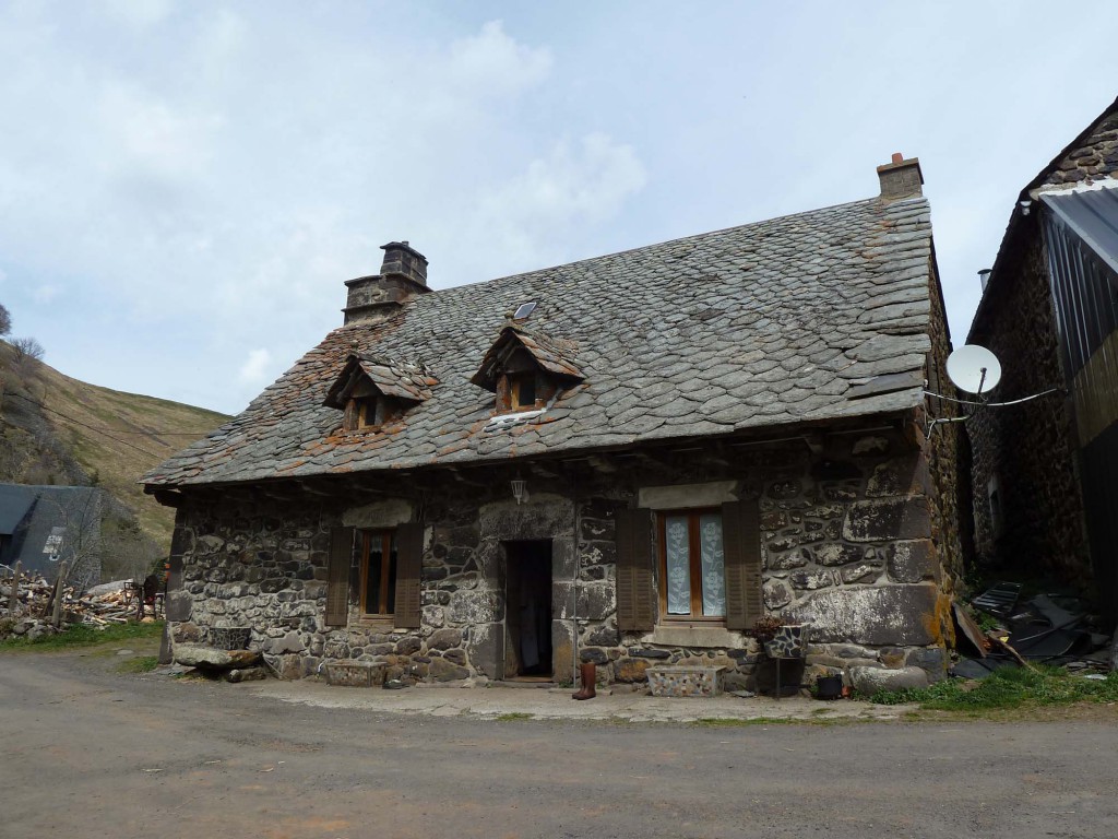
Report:
<svg viewBox="0 0 1118 839"><path fill-rule="evenodd" d="M498 414L544 407L558 393L582 380L574 345L520 326L506 326L471 379L496 395Z"/></svg>

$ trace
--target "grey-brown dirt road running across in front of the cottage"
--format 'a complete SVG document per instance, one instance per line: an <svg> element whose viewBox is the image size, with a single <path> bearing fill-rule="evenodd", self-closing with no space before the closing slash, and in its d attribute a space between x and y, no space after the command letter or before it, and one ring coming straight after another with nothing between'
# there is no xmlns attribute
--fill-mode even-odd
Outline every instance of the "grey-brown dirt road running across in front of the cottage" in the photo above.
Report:
<svg viewBox="0 0 1118 839"><path fill-rule="evenodd" d="M0 837L1118 836L1114 709L832 725L434 717L125 676L108 653L0 654Z"/></svg>

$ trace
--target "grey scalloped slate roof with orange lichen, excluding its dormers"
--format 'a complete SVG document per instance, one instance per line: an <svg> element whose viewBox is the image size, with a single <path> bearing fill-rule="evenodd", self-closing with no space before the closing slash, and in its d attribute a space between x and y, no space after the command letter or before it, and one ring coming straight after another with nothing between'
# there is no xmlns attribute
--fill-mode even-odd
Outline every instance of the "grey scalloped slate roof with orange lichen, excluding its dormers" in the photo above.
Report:
<svg viewBox="0 0 1118 839"><path fill-rule="evenodd" d="M149 472L151 487L501 461L922 402L931 223L873 198L423 294L335 329L231 422ZM508 324L563 341L585 380L538 417L490 426L470 379ZM322 402L352 352L425 364L430 398L373 433Z"/></svg>

